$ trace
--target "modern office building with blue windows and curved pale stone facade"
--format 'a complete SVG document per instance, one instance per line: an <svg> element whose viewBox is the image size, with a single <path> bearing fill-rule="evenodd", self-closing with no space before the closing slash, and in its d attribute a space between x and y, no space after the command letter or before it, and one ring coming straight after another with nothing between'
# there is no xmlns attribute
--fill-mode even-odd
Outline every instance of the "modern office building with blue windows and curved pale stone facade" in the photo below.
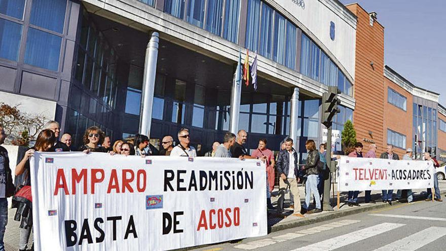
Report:
<svg viewBox="0 0 446 251"><path fill-rule="evenodd" d="M304 153L306 139L320 141L328 86L342 91L334 129L353 117L356 23L337 0L3 0L0 89L55 101L75 145L91 125L137 133L144 82L153 139L187 127L204 153L238 117L249 149L266 137L278 150L291 135ZM251 62L258 53L258 88L243 85L231 114L246 49Z"/></svg>

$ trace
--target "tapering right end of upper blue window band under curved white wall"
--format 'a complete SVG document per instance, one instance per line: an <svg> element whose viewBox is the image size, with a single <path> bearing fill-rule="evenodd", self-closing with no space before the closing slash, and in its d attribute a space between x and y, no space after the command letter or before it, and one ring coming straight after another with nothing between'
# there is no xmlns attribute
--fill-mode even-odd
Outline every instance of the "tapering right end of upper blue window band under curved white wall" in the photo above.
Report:
<svg viewBox="0 0 446 251"><path fill-rule="evenodd" d="M302 33L301 73L322 84L337 86L342 93L353 95L353 86L341 69L313 42Z"/></svg>

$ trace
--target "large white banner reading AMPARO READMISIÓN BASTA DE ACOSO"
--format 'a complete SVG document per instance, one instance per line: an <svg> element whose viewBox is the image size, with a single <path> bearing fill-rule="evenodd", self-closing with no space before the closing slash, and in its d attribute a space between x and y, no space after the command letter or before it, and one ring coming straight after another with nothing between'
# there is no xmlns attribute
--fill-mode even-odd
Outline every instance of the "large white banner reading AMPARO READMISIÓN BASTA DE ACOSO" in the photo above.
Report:
<svg viewBox="0 0 446 251"><path fill-rule="evenodd" d="M265 164L38 153L36 250L168 250L267 234Z"/></svg>

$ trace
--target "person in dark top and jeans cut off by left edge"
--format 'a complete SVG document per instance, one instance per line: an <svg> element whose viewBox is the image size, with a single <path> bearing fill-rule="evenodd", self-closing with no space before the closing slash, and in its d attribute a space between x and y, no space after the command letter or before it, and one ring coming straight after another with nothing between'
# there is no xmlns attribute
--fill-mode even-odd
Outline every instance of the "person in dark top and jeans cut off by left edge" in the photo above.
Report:
<svg viewBox="0 0 446 251"><path fill-rule="evenodd" d="M3 239L8 224L8 200L6 198L11 197L15 190L11 168L9 167L8 151L1 146L6 137L3 125L0 125L0 181L2 181L0 183L0 251L5 250Z"/></svg>

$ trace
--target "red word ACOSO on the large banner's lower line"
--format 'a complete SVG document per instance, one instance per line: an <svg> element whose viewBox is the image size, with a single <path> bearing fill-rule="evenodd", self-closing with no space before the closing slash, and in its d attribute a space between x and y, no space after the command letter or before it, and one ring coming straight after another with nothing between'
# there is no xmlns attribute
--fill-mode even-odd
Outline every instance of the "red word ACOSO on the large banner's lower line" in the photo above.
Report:
<svg viewBox="0 0 446 251"><path fill-rule="evenodd" d="M223 213L225 212L225 213ZM232 214L230 214L233 212ZM215 214L217 219L215 219ZM208 220L206 217L209 217L209 225L207 224ZM215 220L217 224L215 224ZM204 230L209 229L216 229L217 227L219 229L224 227L231 227L231 226L239 226L240 225L240 208L235 207L234 210L231 208L226 208L225 210L222 208L219 208L215 211L215 209L209 210L209 215L206 214L206 210L202 210L200 214L200 220L198 221L198 227L197 231L200 231L201 228L204 228Z"/></svg>

